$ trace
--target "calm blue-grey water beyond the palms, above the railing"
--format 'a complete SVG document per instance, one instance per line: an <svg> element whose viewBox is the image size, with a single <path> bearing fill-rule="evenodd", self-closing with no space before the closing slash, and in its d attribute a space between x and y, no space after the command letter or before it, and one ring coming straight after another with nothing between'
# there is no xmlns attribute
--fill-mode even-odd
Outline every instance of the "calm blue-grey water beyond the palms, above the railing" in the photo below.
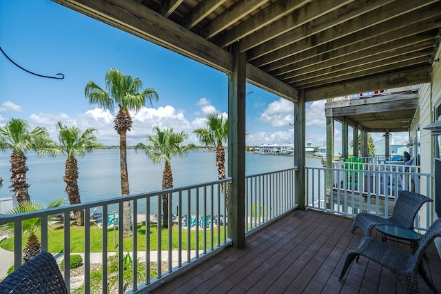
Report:
<svg viewBox="0 0 441 294"><path fill-rule="evenodd" d="M65 157L37 157L27 153L27 175L30 184L29 195L32 200L48 203L53 199L65 198ZM93 153L79 157L79 190L81 202L90 202L121 196L119 150L94 150ZM227 159L226 159L227 160ZM174 187L210 182L217 179L216 153L203 150L189 153L184 158L172 159ZM307 166L321 166L318 158L307 158ZM226 164L227 165L227 164ZM292 168L294 157L259 155L247 153L246 173L256 175L276 170ZM152 164L145 153L127 150L130 194L161 190L163 164ZM0 153L0 177L3 185L0 197L11 197L10 192L10 153Z"/></svg>

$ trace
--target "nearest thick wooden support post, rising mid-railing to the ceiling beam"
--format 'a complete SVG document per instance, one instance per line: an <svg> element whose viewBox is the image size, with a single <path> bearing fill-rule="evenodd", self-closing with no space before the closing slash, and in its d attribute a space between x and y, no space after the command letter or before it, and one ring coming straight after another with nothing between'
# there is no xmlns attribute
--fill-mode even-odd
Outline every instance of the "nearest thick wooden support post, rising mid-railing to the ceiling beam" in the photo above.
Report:
<svg viewBox="0 0 441 294"><path fill-rule="evenodd" d="M228 79L228 230L235 248L245 245L245 53L233 44Z"/></svg>

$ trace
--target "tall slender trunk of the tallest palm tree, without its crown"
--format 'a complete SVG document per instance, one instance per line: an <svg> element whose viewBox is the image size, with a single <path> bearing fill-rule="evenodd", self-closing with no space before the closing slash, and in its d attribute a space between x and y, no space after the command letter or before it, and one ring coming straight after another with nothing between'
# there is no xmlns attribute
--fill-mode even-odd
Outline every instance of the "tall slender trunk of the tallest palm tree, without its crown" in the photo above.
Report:
<svg viewBox="0 0 441 294"><path fill-rule="evenodd" d="M127 130L119 131L119 155L121 166L121 195L130 195L129 175L127 173ZM132 236L132 215L130 202L123 203L123 236Z"/></svg>

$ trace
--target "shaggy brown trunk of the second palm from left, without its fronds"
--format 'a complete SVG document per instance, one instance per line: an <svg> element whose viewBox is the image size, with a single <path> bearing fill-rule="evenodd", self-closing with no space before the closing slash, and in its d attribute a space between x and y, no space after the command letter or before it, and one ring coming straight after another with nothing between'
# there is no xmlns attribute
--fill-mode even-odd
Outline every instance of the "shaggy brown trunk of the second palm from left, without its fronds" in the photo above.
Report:
<svg viewBox="0 0 441 294"><path fill-rule="evenodd" d="M68 193L69 203L81 203L80 191L78 188L78 161L75 157L68 157L68 159L66 159L63 180L66 183L65 193ZM83 210L75 210L74 217L76 226L84 226Z"/></svg>

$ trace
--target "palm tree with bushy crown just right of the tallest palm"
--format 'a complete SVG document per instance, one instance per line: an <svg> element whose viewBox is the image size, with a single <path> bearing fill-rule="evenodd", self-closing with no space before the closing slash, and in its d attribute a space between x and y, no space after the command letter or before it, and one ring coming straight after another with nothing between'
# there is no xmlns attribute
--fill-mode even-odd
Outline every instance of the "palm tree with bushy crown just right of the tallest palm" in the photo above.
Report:
<svg viewBox="0 0 441 294"><path fill-rule="evenodd" d="M194 144L181 146L183 141L187 140L188 135L184 132L174 133L173 128L165 128L160 130L158 126L153 129L154 135L147 135L147 139L151 145L139 143L136 145L136 150L144 150L145 154L154 163L158 164L164 162L163 170L163 189L173 188L173 173L172 173L172 158L185 157L190 150L196 150ZM168 228L168 206L169 195L163 194L163 226Z"/></svg>

